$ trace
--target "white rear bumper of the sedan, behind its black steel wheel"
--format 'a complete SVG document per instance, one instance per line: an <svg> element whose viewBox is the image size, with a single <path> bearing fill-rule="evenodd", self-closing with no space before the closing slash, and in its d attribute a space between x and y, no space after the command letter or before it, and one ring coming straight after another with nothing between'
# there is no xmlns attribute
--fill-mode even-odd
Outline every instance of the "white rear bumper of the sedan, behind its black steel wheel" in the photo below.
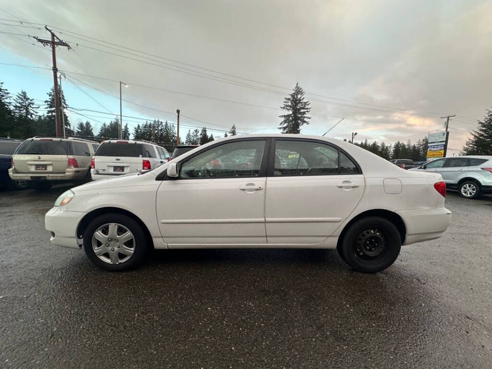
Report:
<svg viewBox="0 0 492 369"><path fill-rule="evenodd" d="M451 222L451 212L446 208L400 210L406 227L403 244L427 241L441 237Z"/></svg>

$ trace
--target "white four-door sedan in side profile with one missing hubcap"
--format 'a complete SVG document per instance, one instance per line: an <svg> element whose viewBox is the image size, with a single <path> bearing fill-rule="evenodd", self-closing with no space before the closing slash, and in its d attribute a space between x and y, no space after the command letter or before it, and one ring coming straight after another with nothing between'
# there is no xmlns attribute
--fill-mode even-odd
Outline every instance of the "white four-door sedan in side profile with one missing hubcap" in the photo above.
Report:
<svg viewBox="0 0 492 369"><path fill-rule="evenodd" d="M135 267L151 249L337 249L378 272L401 245L451 220L439 174L410 172L348 142L231 136L140 174L87 183L46 213L51 242L83 247L100 268Z"/></svg>

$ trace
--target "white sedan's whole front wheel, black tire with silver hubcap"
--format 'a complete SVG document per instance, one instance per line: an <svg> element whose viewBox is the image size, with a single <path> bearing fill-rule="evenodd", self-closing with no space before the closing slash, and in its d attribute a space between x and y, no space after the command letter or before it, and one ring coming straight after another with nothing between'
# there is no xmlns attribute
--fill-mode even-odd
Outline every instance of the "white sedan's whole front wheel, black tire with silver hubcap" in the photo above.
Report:
<svg viewBox="0 0 492 369"><path fill-rule="evenodd" d="M127 232L130 232L131 239L116 238L125 237ZM116 213L100 215L92 220L84 231L83 243L89 259L100 269L110 272L124 272L137 267L148 250L140 225L129 216Z"/></svg>

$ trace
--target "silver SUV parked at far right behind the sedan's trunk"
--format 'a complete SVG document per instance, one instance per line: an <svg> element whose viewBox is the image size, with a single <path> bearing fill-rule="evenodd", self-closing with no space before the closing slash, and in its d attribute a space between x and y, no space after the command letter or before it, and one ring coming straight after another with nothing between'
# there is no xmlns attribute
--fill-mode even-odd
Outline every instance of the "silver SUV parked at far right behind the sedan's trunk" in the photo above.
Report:
<svg viewBox="0 0 492 369"><path fill-rule="evenodd" d="M469 155L436 159L409 170L439 173L446 182L446 188L458 190L466 198L492 193L492 156Z"/></svg>

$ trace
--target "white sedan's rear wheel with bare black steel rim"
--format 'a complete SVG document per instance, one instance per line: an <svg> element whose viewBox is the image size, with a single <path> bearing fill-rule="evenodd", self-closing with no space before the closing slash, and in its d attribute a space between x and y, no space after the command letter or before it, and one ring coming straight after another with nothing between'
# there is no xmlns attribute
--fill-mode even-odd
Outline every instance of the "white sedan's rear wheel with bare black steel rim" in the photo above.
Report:
<svg viewBox="0 0 492 369"><path fill-rule="evenodd" d="M400 232L391 221L377 216L362 218L345 233L342 258L358 272L381 272L395 262L401 243Z"/></svg>

